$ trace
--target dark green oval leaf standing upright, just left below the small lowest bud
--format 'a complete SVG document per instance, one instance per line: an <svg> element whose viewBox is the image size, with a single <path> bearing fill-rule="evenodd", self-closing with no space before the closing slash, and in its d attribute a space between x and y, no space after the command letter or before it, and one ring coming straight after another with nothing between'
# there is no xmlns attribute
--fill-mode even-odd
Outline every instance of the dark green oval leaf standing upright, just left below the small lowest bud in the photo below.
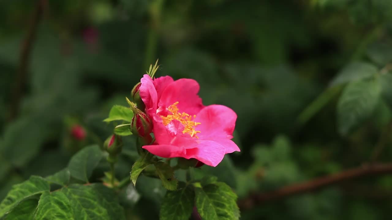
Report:
<svg viewBox="0 0 392 220"><path fill-rule="evenodd" d="M75 179L88 182L101 159L102 151L98 145L87 146L71 158L68 164L69 172Z"/></svg>

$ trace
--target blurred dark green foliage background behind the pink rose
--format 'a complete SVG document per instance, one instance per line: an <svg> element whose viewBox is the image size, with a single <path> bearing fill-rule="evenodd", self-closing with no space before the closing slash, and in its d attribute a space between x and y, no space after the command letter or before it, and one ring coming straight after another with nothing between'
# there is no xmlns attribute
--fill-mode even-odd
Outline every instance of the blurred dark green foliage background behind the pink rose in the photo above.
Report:
<svg viewBox="0 0 392 220"><path fill-rule="evenodd" d="M157 77L196 79L205 105L238 114L234 140L241 152L202 170L227 182L240 202L254 191L360 166L380 134L386 147L377 159L392 159L385 132L392 84L381 79L390 95L344 136L337 123L342 85L330 86L349 63L385 70L392 61L390 0L40 2L37 11L37 1L0 1L0 200L13 184L51 175L83 146L102 143L113 131L102 122L111 106L126 105L125 96L158 58ZM75 124L87 132L82 141L71 134ZM135 159L132 141L125 141L119 176L129 175ZM162 195L136 189L140 200L125 205L129 219L158 219ZM390 219L392 176L240 207L243 220Z"/></svg>

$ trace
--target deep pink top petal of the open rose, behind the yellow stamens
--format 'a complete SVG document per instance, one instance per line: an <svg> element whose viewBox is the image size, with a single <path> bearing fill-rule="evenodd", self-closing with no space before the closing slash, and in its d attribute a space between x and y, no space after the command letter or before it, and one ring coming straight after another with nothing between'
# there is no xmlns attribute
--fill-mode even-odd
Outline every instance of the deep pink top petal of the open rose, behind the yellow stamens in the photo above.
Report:
<svg viewBox="0 0 392 220"><path fill-rule="evenodd" d="M199 83L193 79L178 79L163 90L158 105L171 106L178 102L180 113L195 115L204 107L198 96L199 89Z"/></svg>

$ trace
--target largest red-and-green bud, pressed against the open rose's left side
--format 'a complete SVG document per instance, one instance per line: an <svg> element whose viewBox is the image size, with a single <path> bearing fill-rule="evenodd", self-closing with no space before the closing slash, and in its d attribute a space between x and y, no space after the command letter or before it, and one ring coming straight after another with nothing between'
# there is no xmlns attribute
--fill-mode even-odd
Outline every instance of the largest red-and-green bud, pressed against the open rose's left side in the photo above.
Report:
<svg viewBox="0 0 392 220"><path fill-rule="evenodd" d="M141 110L134 108L134 115L131 122L131 132L145 137L152 132L152 123L149 117Z"/></svg>

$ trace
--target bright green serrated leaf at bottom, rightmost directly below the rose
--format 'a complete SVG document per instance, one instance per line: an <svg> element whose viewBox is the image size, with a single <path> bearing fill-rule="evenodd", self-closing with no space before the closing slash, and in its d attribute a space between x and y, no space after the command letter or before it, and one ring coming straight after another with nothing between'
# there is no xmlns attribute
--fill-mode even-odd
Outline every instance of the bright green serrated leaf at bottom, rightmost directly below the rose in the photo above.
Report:
<svg viewBox="0 0 392 220"><path fill-rule="evenodd" d="M223 182L196 188L195 204L201 218L208 220L237 220L240 218L237 195Z"/></svg>

